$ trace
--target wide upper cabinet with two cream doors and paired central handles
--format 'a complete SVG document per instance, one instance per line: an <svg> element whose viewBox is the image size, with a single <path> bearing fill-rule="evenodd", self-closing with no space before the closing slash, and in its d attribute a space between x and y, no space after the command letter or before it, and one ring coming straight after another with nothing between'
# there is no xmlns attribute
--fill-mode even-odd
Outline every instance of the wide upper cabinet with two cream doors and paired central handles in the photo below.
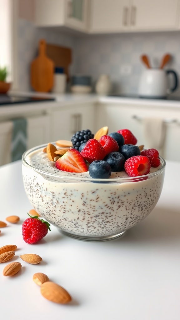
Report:
<svg viewBox="0 0 180 320"><path fill-rule="evenodd" d="M91 0L90 32L175 30L179 0Z"/></svg>

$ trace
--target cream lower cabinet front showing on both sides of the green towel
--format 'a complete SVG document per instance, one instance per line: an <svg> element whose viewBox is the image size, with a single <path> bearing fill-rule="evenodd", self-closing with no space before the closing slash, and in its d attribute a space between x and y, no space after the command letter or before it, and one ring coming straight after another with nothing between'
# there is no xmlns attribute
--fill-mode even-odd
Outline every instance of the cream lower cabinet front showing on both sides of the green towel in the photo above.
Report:
<svg viewBox="0 0 180 320"><path fill-rule="evenodd" d="M49 115L28 116L27 119L27 149L48 143L50 137ZM13 118L12 118L13 120ZM13 122L0 122L0 165L11 162L11 141Z"/></svg>

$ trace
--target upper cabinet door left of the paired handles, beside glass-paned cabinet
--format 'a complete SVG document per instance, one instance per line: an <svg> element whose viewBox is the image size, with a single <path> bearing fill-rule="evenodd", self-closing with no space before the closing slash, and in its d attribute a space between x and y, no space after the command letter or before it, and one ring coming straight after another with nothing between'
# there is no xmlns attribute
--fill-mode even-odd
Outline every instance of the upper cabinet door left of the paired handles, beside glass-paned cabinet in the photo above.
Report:
<svg viewBox="0 0 180 320"><path fill-rule="evenodd" d="M130 0L92 0L90 31L109 33L129 28Z"/></svg>

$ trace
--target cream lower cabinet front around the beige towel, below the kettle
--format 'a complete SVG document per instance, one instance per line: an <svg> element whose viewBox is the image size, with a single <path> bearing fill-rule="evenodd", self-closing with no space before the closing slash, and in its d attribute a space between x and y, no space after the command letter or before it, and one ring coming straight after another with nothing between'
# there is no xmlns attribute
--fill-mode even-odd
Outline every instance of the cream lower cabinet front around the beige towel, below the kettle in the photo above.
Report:
<svg viewBox="0 0 180 320"><path fill-rule="evenodd" d="M144 118L160 118L165 123L165 142L163 156L166 160L180 161L180 148L177 141L180 141L180 109L158 108L147 105L123 105L123 104L99 104L96 114L96 126L101 128L108 126L109 133L119 129L129 129L133 132L138 142L137 145L144 145Z"/></svg>

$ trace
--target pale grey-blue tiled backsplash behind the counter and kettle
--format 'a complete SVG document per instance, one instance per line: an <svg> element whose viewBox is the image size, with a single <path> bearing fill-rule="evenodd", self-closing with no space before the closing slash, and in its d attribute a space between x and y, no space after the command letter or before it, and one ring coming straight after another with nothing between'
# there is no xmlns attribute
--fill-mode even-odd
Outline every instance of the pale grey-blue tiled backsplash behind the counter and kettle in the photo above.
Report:
<svg viewBox="0 0 180 320"><path fill-rule="evenodd" d="M37 55L38 41L41 38L48 43L72 48L71 75L76 73L90 75L95 84L101 74L108 74L114 93L137 93L139 79L145 68L140 61L140 56L144 53L149 56L151 66L154 68L160 66L165 53L170 53L172 60L165 68L174 69L180 81L179 32L73 36L61 31L36 28L32 22L19 19L18 35L21 90L30 89L30 62ZM180 85L175 94L180 95Z"/></svg>

